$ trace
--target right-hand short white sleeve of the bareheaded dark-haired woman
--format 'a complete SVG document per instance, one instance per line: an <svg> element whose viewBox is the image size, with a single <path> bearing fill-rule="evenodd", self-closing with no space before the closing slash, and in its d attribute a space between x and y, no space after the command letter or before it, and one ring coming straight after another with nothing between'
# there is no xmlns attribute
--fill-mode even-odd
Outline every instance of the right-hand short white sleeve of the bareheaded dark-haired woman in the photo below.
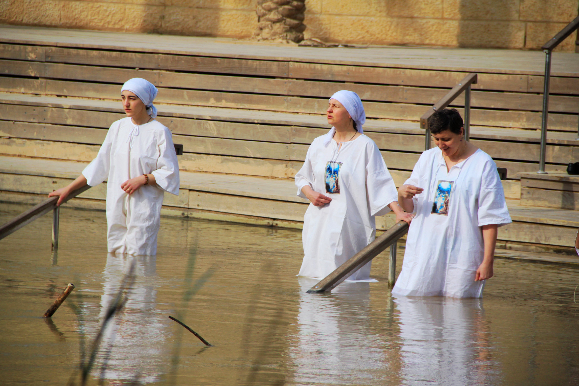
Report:
<svg viewBox="0 0 579 386"><path fill-rule="evenodd" d="M503 183L492 159L485 162L481 176L481 191L478 197L478 226L511 223Z"/></svg>

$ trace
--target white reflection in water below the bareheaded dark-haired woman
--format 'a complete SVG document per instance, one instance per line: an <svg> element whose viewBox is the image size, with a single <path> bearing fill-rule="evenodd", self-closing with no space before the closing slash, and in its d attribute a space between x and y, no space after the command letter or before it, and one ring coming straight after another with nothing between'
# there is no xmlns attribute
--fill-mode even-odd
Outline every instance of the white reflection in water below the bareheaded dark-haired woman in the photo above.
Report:
<svg viewBox="0 0 579 386"><path fill-rule="evenodd" d="M500 367L482 299L394 299L400 322L402 384L487 385Z"/></svg>

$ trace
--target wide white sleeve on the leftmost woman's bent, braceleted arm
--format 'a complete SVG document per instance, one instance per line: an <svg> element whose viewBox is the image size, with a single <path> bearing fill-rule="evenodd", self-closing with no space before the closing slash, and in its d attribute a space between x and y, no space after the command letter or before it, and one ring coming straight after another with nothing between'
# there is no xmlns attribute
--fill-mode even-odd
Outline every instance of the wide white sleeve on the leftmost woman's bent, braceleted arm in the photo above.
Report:
<svg viewBox="0 0 579 386"><path fill-rule="evenodd" d="M157 169L153 170L151 174L155 176L159 188L178 196L179 163L171 132L166 127L163 127L163 131L157 136L157 148L159 149Z"/></svg>

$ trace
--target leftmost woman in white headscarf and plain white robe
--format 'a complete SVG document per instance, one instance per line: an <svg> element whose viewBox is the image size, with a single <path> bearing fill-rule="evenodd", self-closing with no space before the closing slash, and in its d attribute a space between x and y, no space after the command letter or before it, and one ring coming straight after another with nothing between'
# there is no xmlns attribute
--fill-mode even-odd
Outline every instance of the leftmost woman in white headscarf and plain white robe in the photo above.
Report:
<svg viewBox="0 0 579 386"><path fill-rule="evenodd" d="M164 192L179 194L179 165L167 127L155 120L157 89L145 79L123 84L121 99L127 117L108 130L97 157L60 196L82 186L107 182L108 251L155 255Z"/></svg>

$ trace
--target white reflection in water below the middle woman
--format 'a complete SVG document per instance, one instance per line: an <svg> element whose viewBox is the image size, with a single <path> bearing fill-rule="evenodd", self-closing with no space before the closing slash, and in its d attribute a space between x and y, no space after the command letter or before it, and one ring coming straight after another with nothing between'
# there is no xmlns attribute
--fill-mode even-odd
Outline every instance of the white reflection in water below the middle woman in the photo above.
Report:
<svg viewBox="0 0 579 386"><path fill-rule="evenodd" d="M317 280L299 277L295 383L374 384L388 366L385 337L371 333L370 284L343 282L331 295L308 294Z"/></svg>

